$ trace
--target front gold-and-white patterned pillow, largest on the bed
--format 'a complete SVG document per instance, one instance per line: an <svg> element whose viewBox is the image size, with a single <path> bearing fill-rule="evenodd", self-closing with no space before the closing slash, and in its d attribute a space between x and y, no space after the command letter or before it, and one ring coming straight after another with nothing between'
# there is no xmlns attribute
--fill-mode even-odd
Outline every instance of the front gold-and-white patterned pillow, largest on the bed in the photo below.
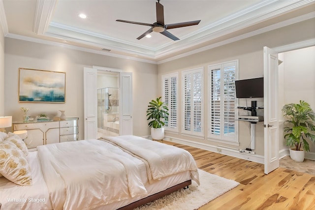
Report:
<svg viewBox="0 0 315 210"><path fill-rule="evenodd" d="M0 173L20 185L32 185L29 162L23 151L10 141L0 143Z"/></svg>

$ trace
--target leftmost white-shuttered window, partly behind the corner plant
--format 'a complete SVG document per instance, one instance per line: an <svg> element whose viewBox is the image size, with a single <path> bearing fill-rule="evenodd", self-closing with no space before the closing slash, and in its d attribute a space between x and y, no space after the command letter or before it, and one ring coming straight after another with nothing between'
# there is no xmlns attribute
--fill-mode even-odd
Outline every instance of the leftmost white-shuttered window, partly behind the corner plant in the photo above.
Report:
<svg viewBox="0 0 315 210"><path fill-rule="evenodd" d="M162 100L168 105L168 121L165 121L166 130L178 132L178 73L162 75Z"/></svg>

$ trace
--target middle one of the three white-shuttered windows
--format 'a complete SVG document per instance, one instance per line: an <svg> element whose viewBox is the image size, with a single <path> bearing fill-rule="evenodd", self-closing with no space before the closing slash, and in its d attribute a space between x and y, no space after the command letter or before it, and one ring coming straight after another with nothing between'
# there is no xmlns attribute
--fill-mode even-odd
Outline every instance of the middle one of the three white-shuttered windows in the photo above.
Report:
<svg viewBox="0 0 315 210"><path fill-rule="evenodd" d="M203 136L203 67L183 71L182 132Z"/></svg>

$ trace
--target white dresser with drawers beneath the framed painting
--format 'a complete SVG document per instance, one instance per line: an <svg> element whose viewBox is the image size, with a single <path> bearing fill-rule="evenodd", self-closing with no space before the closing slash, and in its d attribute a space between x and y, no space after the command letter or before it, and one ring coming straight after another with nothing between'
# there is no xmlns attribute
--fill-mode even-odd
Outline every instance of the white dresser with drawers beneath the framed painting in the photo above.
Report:
<svg viewBox="0 0 315 210"><path fill-rule="evenodd" d="M78 120L79 118L67 118L60 121L13 122L12 130L27 130L28 137L24 142L32 149L39 145L77 141Z"/></svg>

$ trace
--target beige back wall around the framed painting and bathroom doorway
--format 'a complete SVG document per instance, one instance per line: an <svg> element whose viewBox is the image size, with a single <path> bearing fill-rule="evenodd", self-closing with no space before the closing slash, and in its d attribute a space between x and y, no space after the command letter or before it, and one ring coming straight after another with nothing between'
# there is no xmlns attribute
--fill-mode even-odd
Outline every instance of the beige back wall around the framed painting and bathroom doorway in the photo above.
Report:
<svg viewBox="0 0 315 210"><path fill-rule="evenodd" d="M83 67L104 66L132 72L133 77L133 134L150 135L146 120L147 102L157 96L158 70L156 64L87 53L65 47L5 38L4 56L5 115L13 121L22 120L20 107L30 109L32 117L40 113L53 117L65 110L68 117L79 117L79 139L84 137ZM19 103L18 68L32 68L66 72L65 103ZM1 88L1 90L3 90ZM2 100L1 100L2 101Z"/></svg>

